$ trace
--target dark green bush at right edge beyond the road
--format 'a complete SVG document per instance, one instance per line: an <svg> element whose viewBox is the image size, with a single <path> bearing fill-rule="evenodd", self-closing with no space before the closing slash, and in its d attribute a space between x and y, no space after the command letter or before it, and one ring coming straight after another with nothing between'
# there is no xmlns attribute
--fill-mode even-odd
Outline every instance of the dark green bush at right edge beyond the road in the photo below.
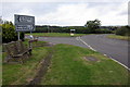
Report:
<svg viewBox="0 0 130 87"><path fill-rule="evenodd" d="M120 36L130 35L130 26L121 26L116 30L116 35L120 35Z"/></svg>

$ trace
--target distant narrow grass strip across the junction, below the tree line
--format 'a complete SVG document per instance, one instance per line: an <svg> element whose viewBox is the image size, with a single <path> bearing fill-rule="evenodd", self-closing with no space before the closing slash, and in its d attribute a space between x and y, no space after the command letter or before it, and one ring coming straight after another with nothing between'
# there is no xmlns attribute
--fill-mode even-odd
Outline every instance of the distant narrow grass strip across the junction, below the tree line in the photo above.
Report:
<svg viewBox="0 0 130 87"><path fill-rule="evenodd" d="M30 34L26 34L30 35ZM74 36L83 36L86 34L75 34ZM32 33L32 36L46 36L46 37L70 37L69 33Z"/></svg>

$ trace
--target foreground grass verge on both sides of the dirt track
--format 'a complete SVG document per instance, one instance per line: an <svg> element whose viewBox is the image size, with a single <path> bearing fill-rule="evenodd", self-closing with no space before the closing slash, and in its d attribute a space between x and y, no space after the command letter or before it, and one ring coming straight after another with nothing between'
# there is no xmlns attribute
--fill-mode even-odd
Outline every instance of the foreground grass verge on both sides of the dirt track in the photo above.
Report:
<svg viewBox="0 0 130 87"><path fill-rule="evenodd" d="M42 41L40 41L42 44ZM39 85L127 85L128 71L92 50L55 45L38 47L24 64L3 63L3 85L27 85L37 74L40 62L54 50L51 64ZM5 53L3 53L3 59ZM42 74L42 72L41 72Z"/></svg>

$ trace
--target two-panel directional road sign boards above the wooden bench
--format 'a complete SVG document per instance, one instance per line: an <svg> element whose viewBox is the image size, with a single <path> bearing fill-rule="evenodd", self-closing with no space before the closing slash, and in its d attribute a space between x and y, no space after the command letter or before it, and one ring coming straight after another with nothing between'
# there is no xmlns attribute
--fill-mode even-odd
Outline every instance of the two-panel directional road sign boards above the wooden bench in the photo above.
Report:
<svg viewBox="0 0 130 87"><path fill-rule="evenodd" d="M14 15L16 32L32 32L35 30L35 16Z"/></svg>

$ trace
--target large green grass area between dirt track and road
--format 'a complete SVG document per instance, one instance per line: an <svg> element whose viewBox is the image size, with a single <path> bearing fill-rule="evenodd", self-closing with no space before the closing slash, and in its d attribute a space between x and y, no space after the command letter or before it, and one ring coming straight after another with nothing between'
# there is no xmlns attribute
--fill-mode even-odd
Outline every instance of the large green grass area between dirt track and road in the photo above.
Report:
<svg viewBox="0 0 130 87"><path fill-rule="evenodd" d="M51 65L40 85L126 85L128 71L113 60L89 49L56 45ZM87 61L95 57L99 61Z"/></svg>

